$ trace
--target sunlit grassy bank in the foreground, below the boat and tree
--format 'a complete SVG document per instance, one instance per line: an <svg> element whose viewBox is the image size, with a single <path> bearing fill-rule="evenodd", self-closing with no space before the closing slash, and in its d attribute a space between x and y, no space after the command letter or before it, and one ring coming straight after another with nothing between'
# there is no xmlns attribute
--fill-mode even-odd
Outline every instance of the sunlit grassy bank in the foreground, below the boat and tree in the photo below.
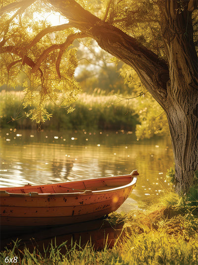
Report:
<svg viewBox="0 0 198 265"><path fill-rule="evenodd" d="M68 248L64 242L60 246L50 244L41 254L37 248L32 252L27 248L21 251L16 244L13 249L1 252L0 264L6 264L6 257L14 256L20 257L21 265L198 264L198 206L190 205L185 196L170 192L147 211L112 213L109 222L112 225L124 222L125 236L112 249L105 245L97 251L90 244L79 249L74 243Z"/></svg>

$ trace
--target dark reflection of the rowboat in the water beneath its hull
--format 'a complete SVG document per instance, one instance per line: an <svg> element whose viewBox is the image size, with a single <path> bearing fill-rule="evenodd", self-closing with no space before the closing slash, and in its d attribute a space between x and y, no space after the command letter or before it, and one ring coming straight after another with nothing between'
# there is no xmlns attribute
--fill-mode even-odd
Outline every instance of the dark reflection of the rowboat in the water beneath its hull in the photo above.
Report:
<svg viewBox="0 0 198 265"><path fill-rule="evenodd" d="M2 231L1 233L1 251L5 247L11 249L17 239L20 239L19 249L24 246L33 251L37 247L41 253L52 243L59 246L67 241L67 248L71 247L71 242L76 242L84 247L88 242L94 246L95 250L101 250L105 246L112 248L115 241L123 236L123 223L111 225L106 219L97 219L88 222L70 224L58 227L28 227L18 228L18 230ZM64 247L62 251L64 253Z"/></svg>

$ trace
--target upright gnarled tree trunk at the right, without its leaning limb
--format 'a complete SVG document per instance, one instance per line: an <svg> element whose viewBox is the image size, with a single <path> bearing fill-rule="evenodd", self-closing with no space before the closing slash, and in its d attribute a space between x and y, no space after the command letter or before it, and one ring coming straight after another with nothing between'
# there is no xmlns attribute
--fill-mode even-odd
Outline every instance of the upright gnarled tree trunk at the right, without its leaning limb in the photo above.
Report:
<svg viewBox="0 0 198 265"><path fill-rule="evenodd" d="M198 57L193 42L193 0L166 0L160 6L170 82L163 106L175 160L176 190L188 191L198 179ZM183 10L180 8L183 7Z"/></svg>

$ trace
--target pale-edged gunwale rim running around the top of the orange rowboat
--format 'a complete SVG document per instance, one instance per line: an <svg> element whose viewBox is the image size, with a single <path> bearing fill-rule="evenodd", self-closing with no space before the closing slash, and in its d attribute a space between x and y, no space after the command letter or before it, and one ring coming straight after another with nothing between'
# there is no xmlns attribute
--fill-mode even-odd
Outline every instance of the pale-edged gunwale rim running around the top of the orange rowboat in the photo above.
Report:
<svg viewBox="0 0 198 265"><path fill-rule="evenodd" d="M133 172L132 172L133 173ZM118 186L118 187L113 187L113 188L110 188L110 189L100 189L100 190L94 190L92 191L91 189L87 189L87 190L84 190L83 192L66 192L66 193L38 193L38 192L35 192L35 191L32 191L32 192L28 192L28 193L11 193L11 192L7 192L6 190L3 190L1 189L0 190L0 197L61 197L61 196L87 196L87 195L96 195L96 194L101 194L101 193L104 193L104 192L114 192L114 191L117 191L117 190L121 190L121 189L124 189L124 188L127 188L127 187L130 187L130 186L133 186L136 184L137 182L137 175L132 175L129 174L129 175L123 175L123 176L112 176L112 177L99 177L99 178L88 178L88 179L80 179L80 180L75 180L75 182L77 181L86 181L86 180L96 180L96 179L108 179L108 178L116 178L116 177L133 177L133 180L126 184L126 185L123 185L123 186ZM71 181L72 182L72 181ZM43 185L59 185L59 184L63 184L65 182L57 182L57 183L50 183L50 184L43 184ZM33 187L35 186L42 186L41 185L31 185ZM24 187L24 186L22 186ZM9 187L11 188L11 187ZM4 193L2 192L4 191Z"/></svg>

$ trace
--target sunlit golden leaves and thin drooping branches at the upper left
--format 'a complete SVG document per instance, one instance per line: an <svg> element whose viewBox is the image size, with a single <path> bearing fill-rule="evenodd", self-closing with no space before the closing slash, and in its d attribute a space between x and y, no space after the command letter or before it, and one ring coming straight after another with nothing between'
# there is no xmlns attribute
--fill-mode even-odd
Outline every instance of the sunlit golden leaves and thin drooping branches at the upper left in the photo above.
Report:
<svg viewBox="0 0 198 265"><path fill-rule="evenodd" d="M42 2L38 7L38 1L29 8L23 12L21 7L22 10L1 16L0 67L3 74L0 84L8 87L22 85L24 107L32 107L27 116L40 123L50 118L45 107L49 100L68 107L77 99L80 91L74 79L77 49L71 44L78 33L63 26L61 31L50 30L49 34L42 34L48 31L50 23L33 19L33 15L39 11L49 12L49 8Z"/></svg>

